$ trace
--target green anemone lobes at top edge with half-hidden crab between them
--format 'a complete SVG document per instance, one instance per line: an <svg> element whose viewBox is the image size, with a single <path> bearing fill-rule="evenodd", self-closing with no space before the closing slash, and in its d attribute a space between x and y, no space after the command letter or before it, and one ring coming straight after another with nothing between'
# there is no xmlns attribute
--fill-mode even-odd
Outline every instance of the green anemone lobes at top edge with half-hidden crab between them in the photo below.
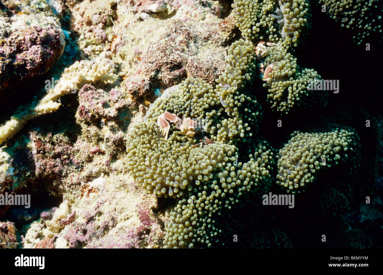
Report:
<svg viewBox="0 0 383 275"><path fill-rule="evenodd" d="M313 69L303 69L288 52L304 43L311 27L311 9L308 1L235 1L232 4L236 25L246 39L258 43L257 74L265 81L267 101L273 110L288 114L298 108L327 104L327 91L309 90L311 82L321 81ZM263 41L262 41L263 40Z"/></svg>

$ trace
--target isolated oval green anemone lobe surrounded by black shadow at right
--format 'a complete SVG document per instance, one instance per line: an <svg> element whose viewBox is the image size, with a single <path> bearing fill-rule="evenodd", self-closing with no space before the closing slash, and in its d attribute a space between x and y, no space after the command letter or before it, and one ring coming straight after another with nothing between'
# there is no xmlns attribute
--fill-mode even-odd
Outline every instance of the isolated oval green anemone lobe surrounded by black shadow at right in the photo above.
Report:
<svg viewBox="0 0 383 275"><path fill-rule="evenodd" d="M357 149L355 133L345 129L326 133L291 134L290 141L279 151L277 183L287 192L301 192L315 181L319 170L327 169L349 159Z"/></svg>

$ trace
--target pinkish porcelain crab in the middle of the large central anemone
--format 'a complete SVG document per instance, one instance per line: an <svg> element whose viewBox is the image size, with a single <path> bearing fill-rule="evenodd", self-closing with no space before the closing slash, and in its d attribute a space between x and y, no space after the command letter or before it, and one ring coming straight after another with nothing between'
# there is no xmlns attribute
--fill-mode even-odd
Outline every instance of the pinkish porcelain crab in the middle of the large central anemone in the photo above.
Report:
<svg viewBox="0 0 383 275"><path fill-rule="evenodd" d="M157 119L157 125L160 129L162 136L164 136L165 139L167 139L169 136L169 131L170 131L169 122L174 123L175 127L177 129L180 129L181 134L183 134L184 136L193 137L196 134L198 134L198 139L200 139L201 142L193 145L192 148L197 147L197 146L203 147L204 145L214 143L208 137L201 135L201 131L199 131L196 128L197 122L195 120L193 120L191 118L186 118L182 121L182 119L179 116L177 116L176 114L172 114L170 112L167 112L167 111L162 113Z"/></svg>

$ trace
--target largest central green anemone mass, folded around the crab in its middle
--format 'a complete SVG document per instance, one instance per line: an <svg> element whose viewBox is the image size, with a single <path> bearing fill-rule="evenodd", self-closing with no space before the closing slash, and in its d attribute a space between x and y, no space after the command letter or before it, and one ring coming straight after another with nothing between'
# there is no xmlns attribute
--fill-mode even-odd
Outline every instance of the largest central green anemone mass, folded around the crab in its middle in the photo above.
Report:
<svg viewBox="0 0 383 275"><path fill-rule="evenodd" d="M180 198L165 224L165 248L211 247L214 236L224 234L224 228L214 226L222 212L245 193L263 194L270 187L273 153L262 147L242 163L237 149L257 133L262 115L247 92L255 77L253 47L243 39L231 45L215 89L201 79L186 79L165 90L129 134L129 170L137 185L147 193ZM183 121L200 119L200 131L185 136L172 123L163 136L157 121L165 112ZM206 137L210 142L204 144Z"/></svg>

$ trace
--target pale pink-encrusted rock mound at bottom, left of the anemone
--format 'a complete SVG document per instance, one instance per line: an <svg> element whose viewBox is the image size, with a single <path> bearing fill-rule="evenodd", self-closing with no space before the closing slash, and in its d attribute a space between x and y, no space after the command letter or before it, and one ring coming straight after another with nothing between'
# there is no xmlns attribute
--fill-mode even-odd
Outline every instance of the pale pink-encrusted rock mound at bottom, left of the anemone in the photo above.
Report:
<svg viewBox="0 0 383 275"><path fill-rule="evenodd" d="M23 246L159 247L164 234L158 217L164 217L154 212L158 208L154 195L145 195L122 175L112 177L96 178L90 183L94 192L75 203L64 201L52 218L34 221Z"/></svg>

